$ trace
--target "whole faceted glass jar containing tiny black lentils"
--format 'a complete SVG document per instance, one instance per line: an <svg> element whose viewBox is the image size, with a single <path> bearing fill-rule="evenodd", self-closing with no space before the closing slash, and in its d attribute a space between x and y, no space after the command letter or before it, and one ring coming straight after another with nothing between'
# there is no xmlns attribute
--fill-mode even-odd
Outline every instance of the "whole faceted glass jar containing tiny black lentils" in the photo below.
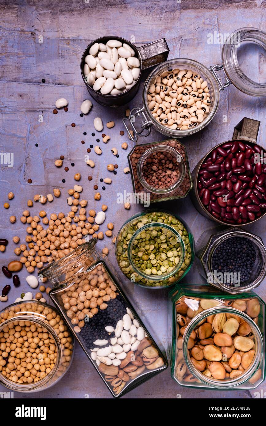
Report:
<svg viewBox="0 0 266 426"><path fill-rule="evenodd" d="M266 276L262 239L237 227L204 231L196 244L196 259L207 282L230 294L250 291Z"/></svg>

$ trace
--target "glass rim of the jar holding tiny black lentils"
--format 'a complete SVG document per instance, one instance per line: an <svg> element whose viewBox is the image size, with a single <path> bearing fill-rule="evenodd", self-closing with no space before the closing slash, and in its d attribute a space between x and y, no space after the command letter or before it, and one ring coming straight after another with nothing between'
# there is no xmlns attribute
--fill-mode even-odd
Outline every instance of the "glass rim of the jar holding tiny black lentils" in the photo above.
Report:
<svg viewBox="0 0 266 426"><path fill-rule="evenodd" d="M219 247L219 245L226 241L227 239L233 238L235 236L238 237L242 237L242 238L246 238L249 239L253 242L254 245L257 246L257 248L260 251L260 254L262 256L262 265L260 268L260 272L258 274L258 276L249 284L243 286L243 287L230 287L224 283L220 283L220 282L216 282L216 284L218 286L220 286L221 288L223 288L224 291L228 291L230 290L231 293L234 294L239 294L239 293L244 293L246 291L251 291L253 288L257 287L265 278L266 276L266 248L264 247L262 241L254 234L243 230L243 229L237 229L237 230L228 230L225 231L225 233L221 234L219 237L217 237L217 239L215 239L215 241L208 247L207 250L204 250L202 252L202 255L200 256L201 262L203 263L202 259L204 256L207 256L207 267L208 267L208 272L211 272L214 276L214 271L211 267L211 262L212 262L212 256L215 252L215 250ZM212 236L209 239L209 242L211 241ZM207 272L207 273L208 273ZM211 283L213 284L213 283Z"/></svg>

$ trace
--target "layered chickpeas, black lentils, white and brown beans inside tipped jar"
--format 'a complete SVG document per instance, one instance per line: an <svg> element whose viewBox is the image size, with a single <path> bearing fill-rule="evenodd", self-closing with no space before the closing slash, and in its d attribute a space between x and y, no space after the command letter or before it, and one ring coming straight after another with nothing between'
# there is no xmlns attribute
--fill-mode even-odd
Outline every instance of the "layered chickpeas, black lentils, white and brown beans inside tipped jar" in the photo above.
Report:
<svg viewBox="0 0 266 426"><path fill-rule="evenodd" d="M78 272L74 269L73 273ZM58 293L76 337L114 396L138 377L166 367L142 322L133 314L103 263L75 275ZM130 389L128 389L130 390Z"/></svg>

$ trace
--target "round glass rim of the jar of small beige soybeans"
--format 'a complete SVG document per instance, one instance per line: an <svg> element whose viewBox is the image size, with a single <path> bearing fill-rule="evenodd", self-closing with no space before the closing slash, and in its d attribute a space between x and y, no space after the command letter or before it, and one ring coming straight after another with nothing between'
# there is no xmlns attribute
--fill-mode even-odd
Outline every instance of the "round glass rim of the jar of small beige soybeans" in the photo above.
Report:
<svg viewBox="0 0 266 426"><path fill-rule="evenodd" d="M29 301L32 302L32 301ZM9 305L6 307L6 309L12 307L12 306L16 306L18 304L20 304L21 302L16 302L16 303L12 303L12 305ZM44 306L50 306L47 304L44 304L42 302L40 302L41 304L43 304ZM50 306L52 309L55 309L53 306ZM35 314L35 312L34 312ZM43 318L41 318L43 317ZM33 320L34 318L34 320ZM62 349L61 349L61 344L60 342L58 342L58 335L55 333L55 330L52 328L52 326L45 322L44 323L44 317L42 314L40 314L38 317L35 317L35 315L32 314L23 314L23 315L17 315L17 317L12 317L9 318L7 320L5 320L4 322L0 323L0 331L3 330L3 328L6 327L6 325L15 322L15 321L29 321L29 322L33 322L36 324L41 325L44 328L47 328L48 332L52 335L52 338L54 340L56 349L57 349L57 357L56 357L56 363L55 366L52 368L52 370L45 376L43 377L43 379L38 380L37 382L32 382L32 383L17 383L17 382L12 382L12 380L9 380L8 378L6 378L1 372L0 372L0 383L2 382L4 386L6 386L9 389L12 389L14 391L17 392L27 392L27 391L33 391L33 390L37 390L36 388L45 385L46 383L48 383L52 377L54 377L54 375L56 374L56 372L58 371L58 367L61 364L61 357L62 357ZM74 339L73 339L73 351L74 351Z"/></svg>

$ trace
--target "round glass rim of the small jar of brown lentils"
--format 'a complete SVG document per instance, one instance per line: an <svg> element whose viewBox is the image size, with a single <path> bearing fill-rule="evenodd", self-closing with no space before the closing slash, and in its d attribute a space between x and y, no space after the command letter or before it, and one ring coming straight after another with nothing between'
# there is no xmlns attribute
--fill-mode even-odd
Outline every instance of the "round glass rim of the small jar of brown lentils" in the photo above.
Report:
<svg viewBox="0 0 266 426"><path fill-rule="evenodd" d="M147 160L147 158L153 154L154 152L168 152L171 153L173 156L176 157L176 162L178 164L180 164L180 171L181 173L179 173L178 179L176 180L176 182L174 182L170 187L168 188L155 188L152 185L150 185L145 177L143 176L143 170L142 167L144 165L145 160ZM182 181L185 178L185 173L186 173L186 166L185 166L185 162L182 158L182 155L180 155L180 153L174 148L171 147L169 145L156 145L154 147L150 147L148 148L143 154L142 156L139 158L138 164L137 164L137 174L139 177L139 181L142 184L142 186L147 189L149 192L151 193L155 193L155 194L168 194L173 192L176 188L179 187L179 185L182 183Z"/></svg>

